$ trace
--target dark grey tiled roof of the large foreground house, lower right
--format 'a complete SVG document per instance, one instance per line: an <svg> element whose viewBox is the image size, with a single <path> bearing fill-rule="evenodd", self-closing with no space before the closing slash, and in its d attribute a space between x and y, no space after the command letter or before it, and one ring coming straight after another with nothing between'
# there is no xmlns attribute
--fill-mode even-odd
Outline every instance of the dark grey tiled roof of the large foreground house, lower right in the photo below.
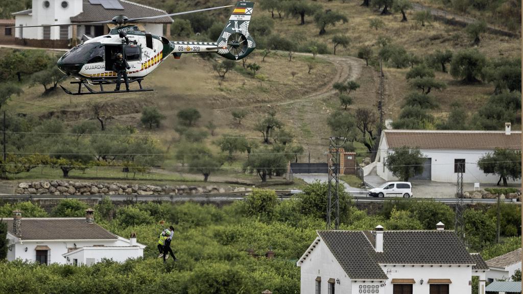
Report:
<svg viewBox="0 0 523 294"><path fill-rule="evenodd" d="M351 279L388 279L380 264L476 264L453 231L385 231L383 253L369 231L317 233Z"/></svg>

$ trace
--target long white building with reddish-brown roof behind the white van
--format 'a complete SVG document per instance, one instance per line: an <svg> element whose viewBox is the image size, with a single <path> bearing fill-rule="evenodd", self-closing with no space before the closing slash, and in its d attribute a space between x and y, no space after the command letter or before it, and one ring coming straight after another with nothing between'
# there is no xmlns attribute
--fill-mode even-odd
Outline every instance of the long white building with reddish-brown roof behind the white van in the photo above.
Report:
<svg viewBox="0 0 523 294"><path fill-rule="evenodd" d="M505 131L385 130L373 163L381 178L397 180L385 162L394 149L404 146L419 148L426 157L423 173L411 179L453 183L456 182L458 164L464 163L464 183L497 183L499 177L483 173L477 161L498 148L521 150L521 131L511 131L510 123ZM516 180L516 183L520 182L520 179Z"/></svg>

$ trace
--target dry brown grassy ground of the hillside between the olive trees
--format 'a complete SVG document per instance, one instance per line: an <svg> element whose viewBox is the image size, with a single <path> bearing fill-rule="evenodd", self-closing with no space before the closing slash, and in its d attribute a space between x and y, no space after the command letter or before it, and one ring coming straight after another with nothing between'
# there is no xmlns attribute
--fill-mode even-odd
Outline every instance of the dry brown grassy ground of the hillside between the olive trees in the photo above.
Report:
<svg viewBox="0 0 523 294"><path fill-rule="evenodd" d="M162 6L160 2L142 1L147 5L172 10ZM337 92L332 85L335 82L354 80L360 88L351 93L353 104L349 111L358 107L376 109L379 100L379 67L376 54L380 50L378 38L389 38L394 45L401 45L409 56L424 58L436 50L449 49L453 52L474 48L484 54L487 60L498 58L517 58L521 54L519 38L509 38L490 33L481 35L479 45L472 47L471 40L462 27L450 26L441 22L428 22L422 26L414 20L414 12L407 10L407 22L401 22L401 14L380 16L380 10L360 6L359 1L319 2L323 9L331 9L348 18L346 23L339 22L336 26L328 26L324 35L319 35L312 16L305 17L305 24L300 25L299 18L278 17L275 14L270 27L270 34L260 35L257 41L260 47L249 56L245 64L256 63L261 66L259 74L267 77L267 81L260 83L242 62L238 62L233 71L229 72L222 80L212 69L212 62L194 55L184 55L180 60L167 59L162 66L149 75L144 86L154 88L154 92L131 93L123 95L89 95L68 96L62 91L56 91L49 96L41 96L43 87L37 85L28 87L22 84L25 93L15 96L4 107L8 112L21 116L37 116L41 119L59 118L72 126L78 121L93 119L93 114L88 110L87 104L100 102L104 104L104 115L110 117L109 126L133 126L143 134L160 136L160 143L168 156L163 167L180 172L180 162L175 159L175 154L181 147L180 133L175 129L179 126L176 116L180 109L187 107L197 108L202 119L199 120L196 130L205 130L204 126L209 121L217 127L214 135L204 139L206 145L218 151L214 144L221 134L241 134L251 140L261 142L261 133L255 131L256 123L268 111L276 111L276 117L283 123L283 129L294 137L294 143L300 144L304 152L322 153L326 149L325 140L331 130L327 126L327 118L340 106ZM224 1L202 1L191 4L187 9L201 6L214 6L230 4ZM167 4L165 4L167 5ZM177 7L176 11L184 7ZM207 21L207 26L213 23L222 26L224 20L221 13L215 19L208 17L191 19L194 24ZM205 21L203 21L203 20ZM257 6L253 15L251 28L256 31L256 19L261 27L271 22L271 14ZM369 21L380 19L384 26L371 29ZM249 28L250 29L250 28ZM211 29L210 29L211 30ZM206 39L212 32L204 32L201 36L192 35L189 39ZM254 35L254 34L253 34ZM299 50L309 50L317 46L326 53L333 49L332 38L335 35L346 35L350 38L347 48L339 46L337 55L320 54L315 58L310 53L293 53L289 61L286 51L271 50L262 61L263 46L270 44L270 36L278 36L280 40L295 43ZM173 39L181 37L173 37ZM369 46L374 51L374 58L369 66L364 60L354 58L361 46ZM325 49L326 48L326 49ZM310 73L309 66L312 67ZM450 65L449 65L450 66ZM401 69L384 63L384 118L396 120L403 105L403 98L412 91L407 83L405 74L410 67ZM294 75L294 76L293 76ZM433 91L439 104L437 110L431 111L437 121L446 120L450 105L459 102L472 117L486 103L488 97L494 93L492 83L464 84L457 81L448 73L436 72L436 79L447 84L443 91ZM62 83L68 86L66 83ZM149 130L140 122L140 112L145 106L155 106L166 117L161 127ZM241 125L234 121L231 112L245 110L247 115ZM95 120L96 121L96 120ZM499 129L503 126L499 126ZM519 125L513 129L520 129ZM360 152L359 159L365 157L366 149L359 143L355 144ZM363 153L362 153L363 152ZM256 179L255 175L244 176L241 167L245 156L237 158L237 163L231 163L222 174L236 171L236 177Z"/></svg>

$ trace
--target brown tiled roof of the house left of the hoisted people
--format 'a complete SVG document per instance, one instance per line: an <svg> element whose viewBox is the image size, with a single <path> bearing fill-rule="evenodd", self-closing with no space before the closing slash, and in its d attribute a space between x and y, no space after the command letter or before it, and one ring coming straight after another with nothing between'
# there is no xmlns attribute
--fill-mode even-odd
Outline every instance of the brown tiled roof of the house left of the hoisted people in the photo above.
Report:
<svg viewBox="0 0 523 294"><path fill-rule="evenodd" d="M13 219L4 219L13 234ZM22 218L22 240L116 240L115 234L85 218Z"/></svg>

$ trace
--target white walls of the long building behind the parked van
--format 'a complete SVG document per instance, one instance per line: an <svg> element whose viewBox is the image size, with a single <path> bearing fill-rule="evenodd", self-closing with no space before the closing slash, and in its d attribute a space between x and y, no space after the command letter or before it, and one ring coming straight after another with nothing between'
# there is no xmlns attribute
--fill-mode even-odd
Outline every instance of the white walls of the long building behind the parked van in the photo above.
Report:
<svg viewBox="0 0 523 294"><path fill-rule="evenodd" d="M399 178L392 175L385 166L386 159L393 150L389 149L386 137L382 135L378 156L376 156L376 172L378 176L386 181L399 180ZM465 160L465 172L463 173L464 183L497 183L499 176L494 174L485 174L479 166L477 161L488 153L494 153L494 150L431 150L420 149L423 156L431 159L431 180L434 182L454 183L456 182L456 173L454 173L454 160ZM511 181L507 179L508 183L521 183L521 180Z"/></svg>

